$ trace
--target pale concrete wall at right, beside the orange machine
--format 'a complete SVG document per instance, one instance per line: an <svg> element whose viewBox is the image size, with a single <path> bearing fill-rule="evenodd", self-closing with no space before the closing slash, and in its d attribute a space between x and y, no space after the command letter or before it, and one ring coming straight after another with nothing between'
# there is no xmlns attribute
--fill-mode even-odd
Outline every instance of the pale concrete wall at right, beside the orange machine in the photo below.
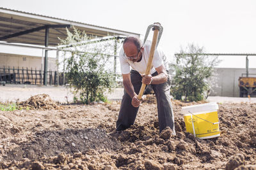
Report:
<svg viewBox="0 0 256 170"><path fill-rule="evenodd" d="M209 96L239 97L238 79L242 73L246 73L246 69L216 68L216 73L216 84ZM256 69L249 69L249 74L256 74Z"/></svg>

